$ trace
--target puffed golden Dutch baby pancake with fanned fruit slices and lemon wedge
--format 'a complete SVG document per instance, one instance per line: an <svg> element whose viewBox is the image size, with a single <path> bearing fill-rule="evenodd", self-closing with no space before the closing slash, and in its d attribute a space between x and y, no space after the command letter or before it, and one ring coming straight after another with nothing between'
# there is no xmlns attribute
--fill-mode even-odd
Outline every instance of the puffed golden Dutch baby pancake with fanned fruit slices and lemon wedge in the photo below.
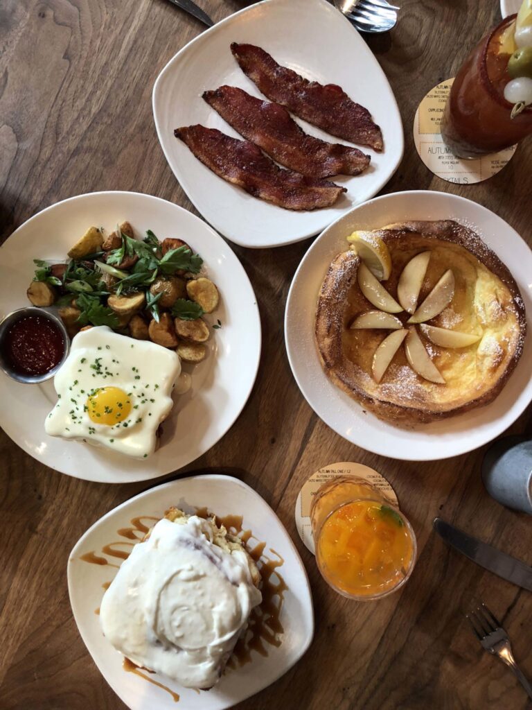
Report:
<svg viewBox="0 0 532 710"><path fill-rule="evenodd" d="M492 402L526 334L519 288L497 255L450 220L390 224L348 241L316 310L331 380L401 427Z"/></svg>

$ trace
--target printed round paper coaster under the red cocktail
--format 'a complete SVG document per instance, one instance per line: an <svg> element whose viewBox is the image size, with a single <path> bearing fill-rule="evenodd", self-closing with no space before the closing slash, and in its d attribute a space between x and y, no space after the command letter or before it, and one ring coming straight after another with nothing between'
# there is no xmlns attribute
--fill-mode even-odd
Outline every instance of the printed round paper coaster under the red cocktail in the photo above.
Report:
<svg viewBox="0 0 532 710"><path fill-rule="evenodd" d="M414 116L414 143L419 157L438 178L460 185L472 185L497 175L509 162L517 146L482 158L464 160L451 153L440 133L440 121L447 103L453 79L434 87L423 99Z"/></svg>

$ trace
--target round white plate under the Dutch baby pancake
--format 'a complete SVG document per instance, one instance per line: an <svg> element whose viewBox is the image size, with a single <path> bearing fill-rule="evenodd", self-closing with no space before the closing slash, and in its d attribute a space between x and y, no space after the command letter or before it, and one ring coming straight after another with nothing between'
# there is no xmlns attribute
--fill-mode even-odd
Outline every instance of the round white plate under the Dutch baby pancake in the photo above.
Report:
<svg viewBox="0 0 532 710"><path fill-rule="evenodd" d="M528 312L523 356L504 390L487 407L423 425L414 431L382 422L338 389L323 372L314 342L314 315L321 283L333 258L345 251L354 229L377 229L405 219L455 219L470 226L514 275ZM463 454L497 437L532 399L532 252L514 229L476 202L443 192L397 192L376 197L331 224L305 254L287 300L284 337L294 377L316 414L340 436L363 449L407 461Z"/></svg>

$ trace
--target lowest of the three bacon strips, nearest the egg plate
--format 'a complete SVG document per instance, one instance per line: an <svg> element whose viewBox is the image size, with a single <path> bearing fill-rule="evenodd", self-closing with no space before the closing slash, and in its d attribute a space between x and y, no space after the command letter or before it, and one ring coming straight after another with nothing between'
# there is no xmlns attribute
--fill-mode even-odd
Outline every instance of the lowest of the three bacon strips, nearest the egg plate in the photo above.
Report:
<svg viewBox="0 0 532 710"><path fill-rule="evenodd" d="M334 182L305 178L279 168L253 143L238 141L216 129L185 126L175 129L174 135L223 180L285 209L330 207L341 192L346 192L345 187Z"/></svg>

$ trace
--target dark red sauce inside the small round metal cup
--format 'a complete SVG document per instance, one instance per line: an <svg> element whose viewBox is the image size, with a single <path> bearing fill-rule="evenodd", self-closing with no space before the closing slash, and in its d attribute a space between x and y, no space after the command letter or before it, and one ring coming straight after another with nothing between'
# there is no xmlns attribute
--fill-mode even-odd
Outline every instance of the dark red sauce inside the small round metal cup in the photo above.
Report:
<svg viewBox="0 0 532 710"><path fill-rule="evenodd" d="M62 360L65 339L59 326L40 315L14 322L2 343L6 362L21 375L44 375Z"/></svg>

